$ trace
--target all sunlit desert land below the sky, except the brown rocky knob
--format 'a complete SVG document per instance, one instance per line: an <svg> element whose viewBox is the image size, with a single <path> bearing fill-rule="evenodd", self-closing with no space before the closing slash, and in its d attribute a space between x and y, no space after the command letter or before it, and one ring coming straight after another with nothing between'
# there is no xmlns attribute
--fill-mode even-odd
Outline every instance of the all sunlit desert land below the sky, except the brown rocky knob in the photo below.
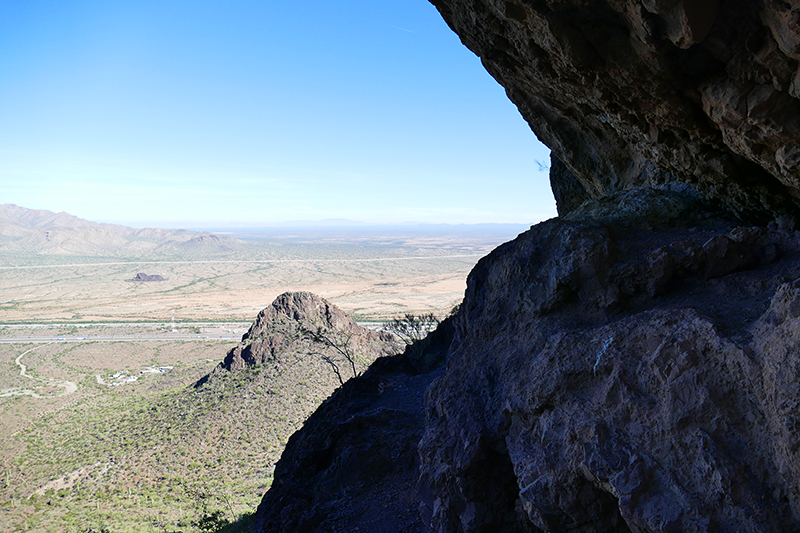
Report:
<svg viewBox="0 0 800 533"><path fill-rule="evenodd" d="M188 531L213 512L217 525L251 515L286 439L337 385L293 345L300 363L196 388L256 315L307 291L371 330L444 317L477 259L520 229L238 238L0 206L0 527Z"/></svg>

